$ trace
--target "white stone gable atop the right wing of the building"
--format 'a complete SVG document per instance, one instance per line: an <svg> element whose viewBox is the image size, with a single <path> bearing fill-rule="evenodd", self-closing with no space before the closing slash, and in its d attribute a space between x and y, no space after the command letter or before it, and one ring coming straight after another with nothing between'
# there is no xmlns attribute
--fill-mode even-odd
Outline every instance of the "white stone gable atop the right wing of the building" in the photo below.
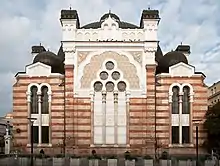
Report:
<svg viewBox="0 0 220 166"><path fill-rule="evenodd" d="M169 67L169 74L172 77L191 77L195 74L195 68L191 65L180 62Z"/></svg>

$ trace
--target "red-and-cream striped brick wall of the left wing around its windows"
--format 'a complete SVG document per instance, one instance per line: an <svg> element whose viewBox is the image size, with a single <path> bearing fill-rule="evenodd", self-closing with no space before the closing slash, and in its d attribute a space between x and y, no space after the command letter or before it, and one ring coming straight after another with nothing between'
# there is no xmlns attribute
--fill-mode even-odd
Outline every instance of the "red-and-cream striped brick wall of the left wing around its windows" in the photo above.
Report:
<svg viewBox="0 0 220 166"><path fill-rule="evenodd" d="M13 85L13 126L14 131L20 129L21 132L14 132L14 144L23 146L28 144L28 104L27 89L30 83L49 83L52 89L51 103L51 126L52 143L62 141L63 136L63 87L59 86L63 81L62 77L19 77ZM38 150L38 149L36 149Z"/></svg>

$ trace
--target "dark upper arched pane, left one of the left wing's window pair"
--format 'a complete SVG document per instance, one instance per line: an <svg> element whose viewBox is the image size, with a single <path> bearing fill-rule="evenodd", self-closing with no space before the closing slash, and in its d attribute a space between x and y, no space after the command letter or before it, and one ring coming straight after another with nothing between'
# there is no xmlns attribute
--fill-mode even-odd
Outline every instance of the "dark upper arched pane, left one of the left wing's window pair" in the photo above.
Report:
<svg viewBox="0 0 220 166"><path fill-rule="evenodd" d="M38 114L38 99L36 86L31 87L31 114Z"/></svg>

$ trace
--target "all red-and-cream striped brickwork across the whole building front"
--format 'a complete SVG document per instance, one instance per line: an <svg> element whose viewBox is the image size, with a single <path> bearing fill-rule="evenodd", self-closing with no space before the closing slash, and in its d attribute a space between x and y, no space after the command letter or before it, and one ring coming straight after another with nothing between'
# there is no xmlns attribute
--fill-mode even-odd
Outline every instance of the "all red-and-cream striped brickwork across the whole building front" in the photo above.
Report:
<svg viewBox="0 0 220 166"><path fill-rule="evenodd" d="M90 98L80 98L73 95L74 68L65 67L65 89L60 86L63 77L19 77L13 86L13 125L21 129L15 133L16 144L26 147L27 134L27 87L30 83L49 83L52 89L51 103L51 133L52 148L45 147L46 152L62 152L62 145L66 142L66 151L78 154L88 154L92 149L99 153L124 153L131 150L138 154L153 154L155 136L159 146L168 148L170 143L170 105L169 87L172 83L190 83L194 89L192 104L192 119L202 119L207 110L207 87L203 77L168 77L159 75L156 86L155 100L155 72L156 66L147 66L147 96L146 98L130 98L129 106L129 142L130 147L118 148L90 148L91 138L91 101ZM65 91L65 94L64 94ZM64 100L65 98L65 100ZM155 102L156 107L155 107ZM64 108L65 105L65 108ZM155 128L156 109L156 128ZM156 129L156 135L155 135ZM66 132L65 132L66 131ZM193 144L195 143L195 127L193 128ZM199 127L199 143L202 144L206 135L202 126ZM35 148L39 151L41 147ZM194 147L191 147L194 148ZM189 148L169 148L173 153L182 153Z"/></svg>

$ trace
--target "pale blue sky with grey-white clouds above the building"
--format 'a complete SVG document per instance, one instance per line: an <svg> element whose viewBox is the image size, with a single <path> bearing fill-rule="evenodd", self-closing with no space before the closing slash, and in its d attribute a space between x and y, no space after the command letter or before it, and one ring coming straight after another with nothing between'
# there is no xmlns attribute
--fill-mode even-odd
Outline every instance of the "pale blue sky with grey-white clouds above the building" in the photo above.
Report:
<svg viewBox="0 0 220 166"><path fill-rule="evenodd" d="M0 116L12 111L14 75L31 63L31 46L40 42L57 52L61 40L60 10L78 10L81 25L99 20L111 9L121 20L139 25L143 9L160 11L159 40L163 52L190 44L190 61L207 76L219 79L219 0L1 0Z"/></svg>

